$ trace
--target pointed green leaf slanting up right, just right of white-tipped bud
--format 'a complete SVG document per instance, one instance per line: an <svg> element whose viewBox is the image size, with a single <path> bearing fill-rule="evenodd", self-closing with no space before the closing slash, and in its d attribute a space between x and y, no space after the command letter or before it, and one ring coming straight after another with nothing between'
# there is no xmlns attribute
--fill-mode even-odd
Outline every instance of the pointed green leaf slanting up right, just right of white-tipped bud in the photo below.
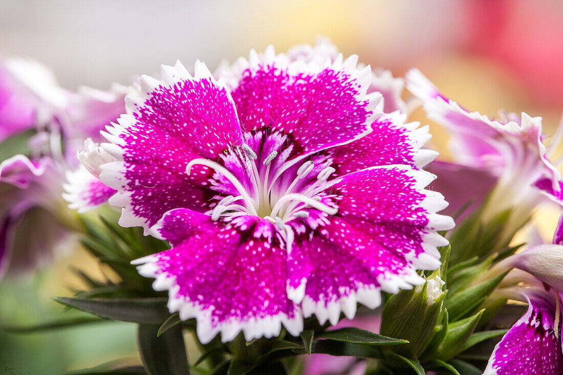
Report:
<svg viewBox="0 0 563 375"><path fill-rule="evenodd" d="M453 296L448 296L445 301L445 307L448 309L450 320L457 320L479 306L482 302L481 300L489 296L506 274L507 272L484 283L475 285L475 287L455 293Z"/></svg>

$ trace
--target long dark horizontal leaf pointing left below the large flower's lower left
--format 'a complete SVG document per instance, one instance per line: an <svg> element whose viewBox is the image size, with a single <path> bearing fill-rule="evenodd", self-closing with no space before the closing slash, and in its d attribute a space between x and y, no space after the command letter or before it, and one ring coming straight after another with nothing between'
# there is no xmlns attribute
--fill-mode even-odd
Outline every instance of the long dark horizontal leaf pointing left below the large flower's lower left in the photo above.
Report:
<svg viewBox="0 0 563 375"><path fill-rule="evenodd" d="M53 297L62 305L123 322L162 324L169 317L166 298L69 298ZM158 331L158 330L157 330Z"/></svg>

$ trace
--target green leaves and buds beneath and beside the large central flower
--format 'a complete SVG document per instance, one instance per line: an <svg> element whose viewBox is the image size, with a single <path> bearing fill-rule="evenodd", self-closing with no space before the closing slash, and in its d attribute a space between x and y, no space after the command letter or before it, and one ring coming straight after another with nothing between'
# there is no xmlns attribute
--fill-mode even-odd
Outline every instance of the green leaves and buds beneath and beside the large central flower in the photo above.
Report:
<svg viewBox="0 0 563 375"><path fill-rule="evenodd" d="M451 236L451 245L440 250L442 265L428 282L411 290L385 296L381 312L381 334L358 328L328 329L315 318L305 321L299 337L283 331L276 338L245 341L243 334L222 343L220 337L202 345L191 367L187 362L183 332L195 332L195 320L181 321L166 307L166 293L155 292L152 280L140 276L131 261L160 252L168 245L144 236L140 229L117 225L117 213L100 217L82 216L81 242L95 256L108 276L97 280L81 270L75 273L87 285L76 297L55 300L65 306L89 312L99 318L46 323L37 327L11 329L53 329L59 326L122 320L138 324L138 350L148 374L297 374L303 358L310 354L353 356L368 360L367 374L465 375L482 372L486 354L481 343L498 340L506 329L490 322L506 300L490 298L504 274L486 278L486 270L517 247L500 243L506 234L511 212L503 212L490 223L472 216ZM501 241L502 242L502 241ZM424 275L424 273L422 273ZM439 279L445 282L439 287ZM431 296L429 296L431 293ZM100 319L102 318L102 319ZM489 353L490 354L490 353ZM109 369L128 373L138 368ZM97 371L97 372L96 372Z"/></svg>

